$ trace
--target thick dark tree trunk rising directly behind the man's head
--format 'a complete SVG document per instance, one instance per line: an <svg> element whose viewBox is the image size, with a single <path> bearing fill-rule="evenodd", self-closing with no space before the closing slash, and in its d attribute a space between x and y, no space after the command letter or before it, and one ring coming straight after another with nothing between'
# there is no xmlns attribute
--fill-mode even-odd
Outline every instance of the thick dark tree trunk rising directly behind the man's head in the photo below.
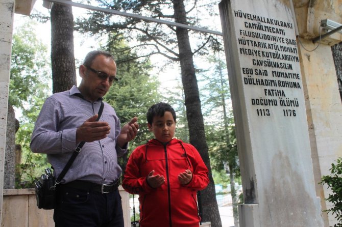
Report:
<svg viewBox="0 0 342 227"><path fill-rule="evenodd" d="M53 4L51 9L52 92L69 90L76 81L74 16L71 6Z"/></svg>

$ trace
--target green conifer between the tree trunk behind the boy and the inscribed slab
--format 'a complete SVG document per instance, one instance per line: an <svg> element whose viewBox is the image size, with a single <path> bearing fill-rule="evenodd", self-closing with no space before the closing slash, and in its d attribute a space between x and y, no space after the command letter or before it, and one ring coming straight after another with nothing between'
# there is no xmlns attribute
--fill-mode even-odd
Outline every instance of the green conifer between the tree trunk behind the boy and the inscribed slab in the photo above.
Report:
<svg viewBox="0 0 342 227"><path fill-rule="evenodd" d="M229 108L230 91L227 68L220 59L219 53L209 57L210 67L203 75L202 100L206 121L206 139L209 146L209 156L216 172L229 173L229 182L233 202L235 226L238 225L235 179L240 176L236 136L232 109ZM210 73L211 72L211 73ZM209 76L207 76L209 74ZM216 182L216 181L215 181Z"/></svg>

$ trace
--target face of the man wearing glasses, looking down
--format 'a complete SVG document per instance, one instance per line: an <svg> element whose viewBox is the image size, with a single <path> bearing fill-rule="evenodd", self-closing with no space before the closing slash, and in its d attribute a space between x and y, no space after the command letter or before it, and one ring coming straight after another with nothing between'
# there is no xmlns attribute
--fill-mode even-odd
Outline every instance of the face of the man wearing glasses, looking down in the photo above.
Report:
<svg viewBox="0 0 342 227"><path fill-rule="evenodd" d="M98 73L100 72L100 73ZM96 101L108 92L116 75L116 65L111 58L98 55L90 67L81 65L82 82L80 92L89 101Z"/></svg>

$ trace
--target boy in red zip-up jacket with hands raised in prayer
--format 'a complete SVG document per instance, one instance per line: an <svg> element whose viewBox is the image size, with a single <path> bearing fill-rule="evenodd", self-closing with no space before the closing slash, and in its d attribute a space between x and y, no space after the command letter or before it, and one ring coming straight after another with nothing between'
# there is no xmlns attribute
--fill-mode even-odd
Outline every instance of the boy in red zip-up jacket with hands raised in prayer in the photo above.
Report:
<svg viewBox="0 0 342 227"><path fill-rule="evenodd" d="M199 152L174 138L176 112L157 103L147 112L155 138L131 154L123 187L139 194L141 227L198 227L197 190L209 183L208 169Z"/></svg>

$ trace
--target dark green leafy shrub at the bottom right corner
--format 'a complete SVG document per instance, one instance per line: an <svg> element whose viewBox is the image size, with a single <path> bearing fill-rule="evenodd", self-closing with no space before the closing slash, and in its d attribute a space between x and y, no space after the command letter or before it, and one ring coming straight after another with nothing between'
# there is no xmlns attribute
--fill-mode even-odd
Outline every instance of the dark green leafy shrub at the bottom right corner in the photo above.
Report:
<svg viewBox="0 0 342 227"><path fill-rule="evenodd" d="M329 171L331 174L322 176L321 182L323 185L326 184L332 191L326 200L332 203L333 206L326 211L335 215L336 220L339 222L334 227L342 226L342 159L338 158L336 163L332 163Z"/></svg>

